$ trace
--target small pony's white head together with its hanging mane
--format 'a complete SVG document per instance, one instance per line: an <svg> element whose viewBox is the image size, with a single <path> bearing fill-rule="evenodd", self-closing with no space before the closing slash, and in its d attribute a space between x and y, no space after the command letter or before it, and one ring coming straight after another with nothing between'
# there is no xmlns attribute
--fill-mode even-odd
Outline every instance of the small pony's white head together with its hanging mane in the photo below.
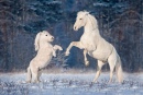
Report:
<svg viewBox="0 0 143 95"><path fill-rule="evenodd" d="M54 40L54 37L47 32L47 31L43 31L36 34L35 37L35 51L38 50L40 48L40 43L51 43Z"/></svg>

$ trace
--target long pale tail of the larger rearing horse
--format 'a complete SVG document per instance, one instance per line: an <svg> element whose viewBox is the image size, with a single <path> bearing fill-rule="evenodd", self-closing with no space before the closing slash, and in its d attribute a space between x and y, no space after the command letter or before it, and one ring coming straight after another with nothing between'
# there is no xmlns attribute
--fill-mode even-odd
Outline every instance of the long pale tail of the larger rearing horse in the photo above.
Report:
<svg viewBox="0 0 143 95"><path fill-rule="evenodd" d="M119 83L122 83L123 82L123 70L122 70L121 59L119 56L117 59L116 71L117 71L117 76L118 76Z"/></svg>

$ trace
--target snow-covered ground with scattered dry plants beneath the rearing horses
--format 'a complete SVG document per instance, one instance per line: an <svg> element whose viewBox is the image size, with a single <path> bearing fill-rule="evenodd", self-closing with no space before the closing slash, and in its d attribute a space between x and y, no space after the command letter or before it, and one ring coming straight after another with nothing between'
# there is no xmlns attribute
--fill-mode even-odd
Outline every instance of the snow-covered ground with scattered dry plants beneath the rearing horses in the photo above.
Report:
<svg viewBox="0 0 143 95"><path fill-rule="evenodd" d="M25 73L1 73L0 95L143 95L143 73L125 73L123 84L108 84L109 73L102 73L91 85L95 73L44 73L41 83L25 83Z"/></svg>

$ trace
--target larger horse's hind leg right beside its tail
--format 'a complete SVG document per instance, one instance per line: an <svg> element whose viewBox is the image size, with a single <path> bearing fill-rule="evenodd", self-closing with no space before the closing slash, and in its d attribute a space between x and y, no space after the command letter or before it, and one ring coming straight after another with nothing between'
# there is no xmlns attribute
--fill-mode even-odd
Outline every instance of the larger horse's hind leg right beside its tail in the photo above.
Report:
<svg viewBox="0 0 143 95"><path fill-rule="evenodd" d="M109 83L111 83L112 82L112 76L113 76L113 70L116 68L117 60L113 58L113 56L110 56L109 59L108 59L108 62L109 62L109 67L110 67L110 80L109 80Z"/></svg>

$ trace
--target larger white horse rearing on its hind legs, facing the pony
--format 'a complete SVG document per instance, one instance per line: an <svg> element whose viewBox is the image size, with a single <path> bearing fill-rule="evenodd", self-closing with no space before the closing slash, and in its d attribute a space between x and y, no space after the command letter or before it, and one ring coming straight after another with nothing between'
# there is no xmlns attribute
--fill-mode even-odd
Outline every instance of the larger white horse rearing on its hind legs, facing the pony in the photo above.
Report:
<svg viewBox="0 0 143 95"><path fill-rule="evenodd" d="M89 64L89 61L86 57L87 54L98 60L98 71L92 81L94 83L97 82L97 79L99 78L101 72L101 68L103 64L106 64L106 62L108 62L110 66L109 83L112 82L114 68L117 69L118 81L119 83L122 83L123 76L120 57L116 48L101 37L98 29L97 20L91 14L89 14L89 12L80 11L77 13L74 29L78 31L78 28L80 28L81 26L84 26L85 32L80 37L80 40L72 41L66 49L65 55L69 55L69 50L73 46L84 49L86 66Z"/></svg>

